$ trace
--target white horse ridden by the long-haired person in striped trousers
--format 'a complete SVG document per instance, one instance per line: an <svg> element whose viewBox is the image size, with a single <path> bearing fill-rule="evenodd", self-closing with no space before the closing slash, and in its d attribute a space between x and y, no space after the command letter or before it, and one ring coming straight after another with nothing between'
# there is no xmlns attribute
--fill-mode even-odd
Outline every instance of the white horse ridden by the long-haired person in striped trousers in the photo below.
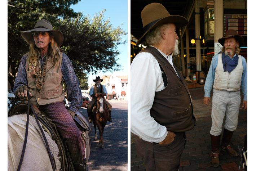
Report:
<svg viewBox="0 0 256 171"><path fill-rule="evenodd" d="M15 115L8 117L8 171L16 171L19 165L19 160L21 158L25 130L26 130L26 120L27 114ZM84 136L88 137L87 133L83 132ZM53 154L53 159L55 161L56 171L61 169L61 162L58 157L59 149L54 140L52 140L45 132L50 150ZM28 137L27 145L21 165L21 171L28 170L42 170L42 171L52 171L52 165L48 155L47 148L44 144L43 135L39 130L39 126L36 123L34 117L29 117L28 126ZM84 143L85 144L85 143ZM89 145L89 142L86 142ZM85 148L85 157L88 162L89 159L89 146Z"/></svg>

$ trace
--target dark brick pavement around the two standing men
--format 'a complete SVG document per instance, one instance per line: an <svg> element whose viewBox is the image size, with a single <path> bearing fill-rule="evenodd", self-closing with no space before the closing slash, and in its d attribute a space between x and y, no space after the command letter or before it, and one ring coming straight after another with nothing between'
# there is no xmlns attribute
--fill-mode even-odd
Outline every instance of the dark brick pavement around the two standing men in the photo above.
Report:
<svg viewBox="0 0 256 171"><path fill-rule="evenodd" d="M203 104L204 87L189 89L194 104L196 126L186 132L187 143L181 155L180 171L242 171L239 170L240 157L231 157L227 152L220 152L220 166L214 168L211 163L211 107ZM212 93L211 93L212 97ZM243 100L243 96L241 96ZM242 102L241 100L241 102ZM242 108L242 103L240 105ZM225 124L225 118L224 118ZM223 124L223 125L224 125ZM223 134L224 126L222 126ZM231 139L231 146L238 152L238 145L244 146L244 135L247 134L247 110L239 110L238 126ZM221 136L222 139L222 136ZM131 171L145 171L144 159L139 156L135 145L135 135L131 132Z"/></svg>

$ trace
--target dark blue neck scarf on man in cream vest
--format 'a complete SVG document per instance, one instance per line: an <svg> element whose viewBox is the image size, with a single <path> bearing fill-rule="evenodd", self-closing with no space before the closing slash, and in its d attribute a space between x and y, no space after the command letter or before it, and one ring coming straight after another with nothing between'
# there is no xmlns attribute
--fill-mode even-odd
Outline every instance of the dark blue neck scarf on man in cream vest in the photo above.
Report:
<svg viewBox="0 0 256 171"><path fill-rule="evenodd" d="M235 57L233 60L229 57L229 55L224 56L224 52L222 53L222 64L223 64L223 69L224 72L231 72L235 67L237 67L238 64L238 55L235 54Z"/></svg>

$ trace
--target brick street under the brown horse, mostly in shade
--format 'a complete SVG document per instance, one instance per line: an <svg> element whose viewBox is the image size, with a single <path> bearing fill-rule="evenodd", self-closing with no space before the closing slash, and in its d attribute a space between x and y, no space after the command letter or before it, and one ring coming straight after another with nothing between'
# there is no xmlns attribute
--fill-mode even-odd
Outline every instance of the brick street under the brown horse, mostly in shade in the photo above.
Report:
<svg viewBox="0 0 256 171"><path fill-rule="evenodd" d="M105 148L98 145L100 134L96 127L97 138L94 140L94 127L92 123L92 133L90 133L92 151L87 163L87 170L94 171L127 171L128 170L128 146L127 146L127 101L110 100L112 105L111 122L107 122L103 132ZM81 108L81 113L87 115L87 108Z"/></svg>

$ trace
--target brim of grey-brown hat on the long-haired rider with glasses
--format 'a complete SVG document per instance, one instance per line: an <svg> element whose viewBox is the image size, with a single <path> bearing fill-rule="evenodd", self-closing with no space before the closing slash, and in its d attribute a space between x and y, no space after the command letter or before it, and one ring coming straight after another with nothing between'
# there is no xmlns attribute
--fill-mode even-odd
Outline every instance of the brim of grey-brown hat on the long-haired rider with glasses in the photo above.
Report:
<svg viewBox="0 0 256 171"><path fill-rule="evenodd" d="M33 40L33 35L32 35L33 31L49 31L53 35L54 40L57 42L58 46L61 46L62 43L63 43L63 34L62 34L61 31L59 31L59 30L50 30L50 29L47 29L47 28L34 28L32 30L21 32L21 36L23 37L23 39L26 40L26 42L28 44L30 44L30 41Z"/></svg>

